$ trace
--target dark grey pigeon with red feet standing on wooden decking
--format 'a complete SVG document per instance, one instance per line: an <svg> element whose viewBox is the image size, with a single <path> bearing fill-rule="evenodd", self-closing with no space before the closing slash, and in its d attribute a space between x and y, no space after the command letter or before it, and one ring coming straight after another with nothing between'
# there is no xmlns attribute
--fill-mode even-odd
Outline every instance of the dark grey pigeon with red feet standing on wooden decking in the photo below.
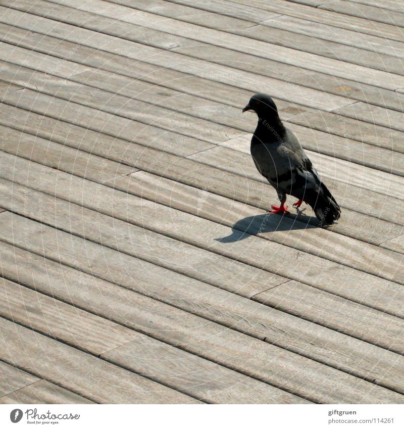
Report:
<svg viewBox="0 0 404 429"><path fill-rule="evenodd" d="M327 186L321 181L312 162L292 131L278 115L274 101L266 94L255 94L242 110L257 113L258 124L251 139L251 156L258 171L276 189L280 206L271 206L269 213L289 213L286 195L296 197L293 204L309 204L321 225L339 219L341 209Z"/></svg>

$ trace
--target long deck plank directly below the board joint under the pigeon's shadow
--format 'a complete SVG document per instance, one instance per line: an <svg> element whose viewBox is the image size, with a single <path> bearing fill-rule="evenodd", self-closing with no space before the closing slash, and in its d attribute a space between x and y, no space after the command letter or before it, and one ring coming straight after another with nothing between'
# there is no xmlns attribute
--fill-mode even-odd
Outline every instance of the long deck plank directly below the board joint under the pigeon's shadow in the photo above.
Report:
<svg viewBox="0 0 404 429"><path fill-rule="evenodd" d="M15 201L17 195L18 193L14 188L13 201ZM57 218L62 221L60 216L62 212L56 210L56 213L58 213ZM24 218L20 219L24 223ZM13 237L18 234L19 230L21 230L23 236L26 234L26 221L24 227L17 227L15 222L18 221L18 218L7 216L7 214L0 217L0 221L4 230L13 230ZM9 222L9 228L6 227L5 222ZM12 223L10 224L10 222ZM75 222L73 222L72 218L70 222L72 227L74 227ZM97 225L94 226L96 226L98 234L99 231L105 229ZM62 237L53 237L51 240L45 239L44 231L48 227L40 224L37 224L36 227L40 228L38 232L39 235L42 235L42 240L46 243L46 248L49 248L49 245L52 243L58 243L59 247L61 246ZM85 231L86 236L90 238L89 228L85 227ZM50 232L52 232L52 229ZM58 230L53 230L53 232L58 233ZM31 233L29 234L31 235ZM64 234L66 234L66 238L71 242L71 234L66 232ZM11 242L15 240L13 237L8 237L8 241L10 242L10 239ZM397 365L404 365L404 360L400 362L399 355L395 353L363 341L355 340L335 331L332 331L333 334L330 335L329 329L322 326L304 321L276 309L263 308L263 306L256 302L237 297L234 294L211 287L200 281L192 281L189 278L185 279L173 271L162 269L156 265L152 269L151 264L145 261L139 261L127 254L118 253L115 250L112 251L106 247L95 245L92 242L98 240L95 237L91 237L91 239L91 242L87 240L85 249L82 243L83 239L78 240L78 242L75 240L77 247L74 249L74 259L84 261L89 257L91 258L91 266L85 269L84 267L81 268L87 272L110 280L110 272L112 271L114 273L114 282L126 285L126 287L130 287L132 290L157 298L167 304L179 306L186 311L203 315L208 320L220 322L225 326L231 326L232 329L249 333L249 335L256 338L265 339L265 341L304 356L315 358L328 365L337 368L349 368L350 372L362 377L370 376L368 364L365 364L365 362L368 362L369 359L373 361L376 359L375 356L377 356L380 368L378 372L384 374L383 379L384 383L386 383L383 383L383 385L396 386L398 390L402 389L400 387L401 382L397 379L396 374L397 372L399 373ZM100 240L105 240L105 237L102 237ZM43 248L42 244L40 246ZM90 250L93 246L95 246L97 256L93 255ZM38 249L35 252L43 253L43 250ZM64 263L68 262L65 261ZM133 281L134 275L136 275L135 281ZM271 327L274 324L276 326L275 330ZM342 360L341 353L346 356ZM392 368L395 368L394 377L391 377L391 374L386 372L387 367L391 371L393 371Z"/></svg>

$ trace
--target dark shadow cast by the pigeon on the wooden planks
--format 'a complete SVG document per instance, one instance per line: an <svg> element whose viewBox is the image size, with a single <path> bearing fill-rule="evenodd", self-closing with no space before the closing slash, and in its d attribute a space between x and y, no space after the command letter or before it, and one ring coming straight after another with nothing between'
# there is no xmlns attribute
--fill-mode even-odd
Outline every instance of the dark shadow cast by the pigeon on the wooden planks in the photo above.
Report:
<svg viewBox="0 0 404 429"><path fill-rule="evenodd" d="M231 234L215 240L220 243L234 243L245 240L251 235L318 227L317 219L302 215L302 211L298 211L297 216L295 214L279 215L275 213L263 213L238 220L231 227Z"/></svg>

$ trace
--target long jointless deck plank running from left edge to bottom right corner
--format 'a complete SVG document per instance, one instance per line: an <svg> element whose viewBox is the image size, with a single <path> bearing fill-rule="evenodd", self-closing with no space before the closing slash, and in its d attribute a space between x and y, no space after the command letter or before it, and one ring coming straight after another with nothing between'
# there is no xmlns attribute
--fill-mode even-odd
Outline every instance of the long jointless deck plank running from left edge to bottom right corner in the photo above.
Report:
<svg viewBox="0 0 404 429"><path fill-rule="evenodd" d="M33 235L30 245L39 240L39 235ZM26 244L21 242L19 246ZM120 288L95 277L92 272L87 274L61 265L60 252L49 255L56 257L53 261L4 242L0 242L0 249L4 261L3 275L35 285L38 291L52 293L72 305L92 308L100 316L316 402L360 403L370 401L375 394L378 396L383 392L381 388L352 375ZM69 246L64 245L63 249L64 257L73 250L69 251ZM72 266L79 268L74 257L70 261L73 261ZM83 283L87 287L85 294L81 286ZM117 312L116 308L120 311ZM330 383L338 389L330 389Z"/></svg>

